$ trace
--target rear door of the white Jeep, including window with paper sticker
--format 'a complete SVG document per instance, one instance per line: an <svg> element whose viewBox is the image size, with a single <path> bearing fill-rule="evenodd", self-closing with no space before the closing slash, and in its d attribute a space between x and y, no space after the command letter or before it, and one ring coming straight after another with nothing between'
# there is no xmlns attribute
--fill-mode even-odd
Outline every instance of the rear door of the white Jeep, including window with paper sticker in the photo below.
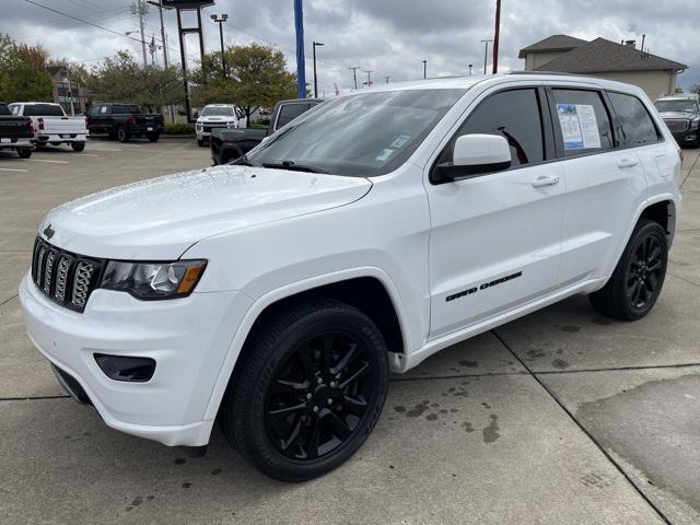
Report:
<svg viewBox="0 0 700 525"><path fill-rule="evenodd" d="M644 187L632 148L623 148L605 93L548 88L565 177L561 273L564 282L604 277Z"/></svg>

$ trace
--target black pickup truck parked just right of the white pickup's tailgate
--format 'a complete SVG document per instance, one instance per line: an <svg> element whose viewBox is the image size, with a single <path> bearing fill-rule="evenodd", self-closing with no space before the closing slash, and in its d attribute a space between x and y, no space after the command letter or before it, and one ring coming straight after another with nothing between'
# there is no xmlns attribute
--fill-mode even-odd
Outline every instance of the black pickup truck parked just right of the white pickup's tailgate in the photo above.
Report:
<svg viewBox="0 0 700 525"><path fill-rule="evenodd" d="M95 104L88 114L90 135L107 135L119 142L148 137L156 142L163 132L163 115L142 113L136 104Z"/></svg>

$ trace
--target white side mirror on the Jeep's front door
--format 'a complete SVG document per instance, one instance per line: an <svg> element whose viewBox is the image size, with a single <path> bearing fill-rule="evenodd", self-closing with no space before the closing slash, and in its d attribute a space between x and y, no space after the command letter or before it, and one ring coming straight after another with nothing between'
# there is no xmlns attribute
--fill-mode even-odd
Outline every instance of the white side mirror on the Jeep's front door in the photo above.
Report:
<svg viewBox="0 0 700 525"><path fill-rule="evenodd" d="M498 135L463 135L455 141L453 162L435 167L442 183L502 172L511 167L511 148Z"/></svg>

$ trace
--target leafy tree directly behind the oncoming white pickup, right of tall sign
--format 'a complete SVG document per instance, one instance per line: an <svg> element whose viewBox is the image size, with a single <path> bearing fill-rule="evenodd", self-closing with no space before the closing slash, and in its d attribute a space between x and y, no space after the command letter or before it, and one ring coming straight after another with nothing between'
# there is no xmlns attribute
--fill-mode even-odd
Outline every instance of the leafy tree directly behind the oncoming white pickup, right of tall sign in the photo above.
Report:
<svg viewBox="0 0 700 525"><path fill-rule="evenodd" d="M249 119L257 107L271 107L280 100L295 96L296 75L287 71L282 51L250 44L230 46L224 57L225 77L221 52L206 55L200 68L192 73L195 105L236 104Z"/></svg>

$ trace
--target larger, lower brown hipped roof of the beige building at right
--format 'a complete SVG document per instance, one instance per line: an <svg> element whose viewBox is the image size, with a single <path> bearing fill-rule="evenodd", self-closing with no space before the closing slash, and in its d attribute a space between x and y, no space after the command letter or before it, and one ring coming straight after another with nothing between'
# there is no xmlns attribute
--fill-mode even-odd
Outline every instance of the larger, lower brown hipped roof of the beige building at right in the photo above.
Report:
<svg viewBox="0 0 700 525"><path fill-rule="evenodd" d="M602 73L605 71L660 71L688 69L685 63L642 52L634 46L596 38L542 63L536 71Z"/></svg>

